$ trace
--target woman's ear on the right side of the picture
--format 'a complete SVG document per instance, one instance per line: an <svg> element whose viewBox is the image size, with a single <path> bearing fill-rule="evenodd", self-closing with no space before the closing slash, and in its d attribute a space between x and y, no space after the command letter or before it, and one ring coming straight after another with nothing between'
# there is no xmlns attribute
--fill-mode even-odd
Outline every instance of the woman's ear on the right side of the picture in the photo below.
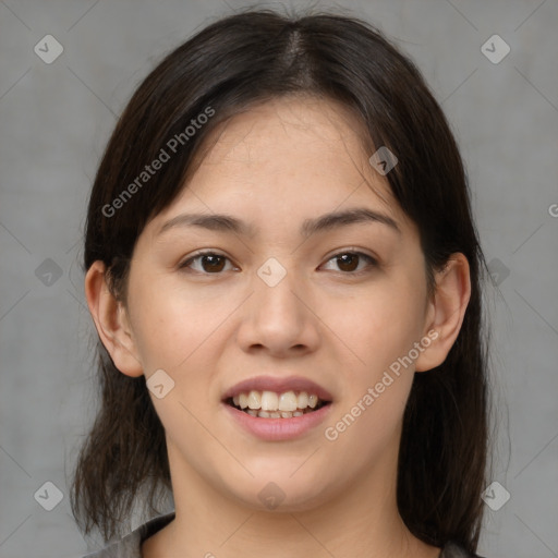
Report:
<svg viewBox="0 0 558 558"><path fill-rule="evenodd" d="M436 290L428 302L426 327L423 332L432 340L416 359L416 372L439 366L458 338L471 298L471 277L466 257L451 254L444 268L436 272ZM438 335L435 337L434 331Z"/></svg>

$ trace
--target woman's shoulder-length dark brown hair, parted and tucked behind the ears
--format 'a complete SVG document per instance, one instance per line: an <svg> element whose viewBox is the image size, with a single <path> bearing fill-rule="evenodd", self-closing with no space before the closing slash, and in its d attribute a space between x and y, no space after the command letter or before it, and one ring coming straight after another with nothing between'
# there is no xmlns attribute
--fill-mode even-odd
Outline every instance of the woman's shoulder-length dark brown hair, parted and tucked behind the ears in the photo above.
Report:
<svg viewBox="0 0 558 558"><path fill-rule="evenodd" d="M387 178L418 228L430 289L450 254L469 260L472 293L456 343L440 366L415 374L397 497L415 536L474 551L487 452L486 264L446 118L414 64L377 29L336 14L251 10L208 25L168 54L133 95L100 162L87 213L85 270L102 260L116 295L125 301L135 242L184 187L204 140L234 114L283 95L341 102L357 116L369 145L396 154L399 163ZM186 126L208 107L213 117L185 140ZM180 134L183 142L168 162L123 197ZM122 203L112 211L117 198ZM145 378L121 374L100 342L98 348L100 409L78 457L71 501L82 530L97 527L108 539L122 534L141 488L148 489L145 501L155 510L157 490L171 487L165 432Z"/></svg>

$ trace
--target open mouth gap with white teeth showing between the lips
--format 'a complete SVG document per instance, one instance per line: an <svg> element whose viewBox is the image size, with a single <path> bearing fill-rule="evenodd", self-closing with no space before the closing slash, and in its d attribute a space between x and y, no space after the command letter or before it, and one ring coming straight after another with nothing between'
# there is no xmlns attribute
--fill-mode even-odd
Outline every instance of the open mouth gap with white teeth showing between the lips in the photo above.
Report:
<svg viewBox="0 0 558 558"><path fill-rule="evenodd" d="M312 391L251 389L227 398L225 403L257 418L293 418L314 413L331 401Z"/></svg>

